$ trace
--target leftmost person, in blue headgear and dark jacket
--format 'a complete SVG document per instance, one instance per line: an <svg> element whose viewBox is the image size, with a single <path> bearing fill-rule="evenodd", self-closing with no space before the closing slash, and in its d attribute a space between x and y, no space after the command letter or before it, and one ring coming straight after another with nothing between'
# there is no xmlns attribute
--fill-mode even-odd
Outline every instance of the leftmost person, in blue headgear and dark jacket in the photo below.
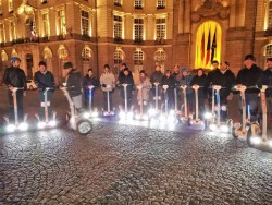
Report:
<svg viewBox="0 0 272 205"><path fill-rule="evenodd" d="M16 92L16 99L17 99L17 117L18 121L22 121L24 118L24 110L23 110L23 97L24 92L26 89L26 76L25 72L20 69L21 59L17 57L11 58L11 68L4 70L3 74L3 83L9 87L8 97L9 97L9 120L12 122L14 121L14 102L13 102L13 88L20 87L23 89L17 89Z"/></svg>

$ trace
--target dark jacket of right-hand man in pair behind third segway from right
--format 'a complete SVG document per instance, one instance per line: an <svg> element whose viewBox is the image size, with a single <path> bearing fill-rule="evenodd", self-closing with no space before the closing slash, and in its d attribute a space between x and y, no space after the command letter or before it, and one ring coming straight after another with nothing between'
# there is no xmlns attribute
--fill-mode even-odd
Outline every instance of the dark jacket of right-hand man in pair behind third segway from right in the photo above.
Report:
<svg viewBox="0 0 272 205"><path fill-rule="evenodd" d="M228 69L224 73L219 69L213 71L213 77L209 80L209 85L220 85L222 89L220 91L220 99L226 100L227 96L231 93L232 86L235 84L235 75Z"/></svg>

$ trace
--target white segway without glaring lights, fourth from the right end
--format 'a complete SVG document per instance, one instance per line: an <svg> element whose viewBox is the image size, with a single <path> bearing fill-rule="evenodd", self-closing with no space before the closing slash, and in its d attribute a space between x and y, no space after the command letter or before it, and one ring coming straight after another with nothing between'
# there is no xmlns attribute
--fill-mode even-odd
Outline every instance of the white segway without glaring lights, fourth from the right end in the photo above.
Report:
<svg viewBox="0 0 272 205"><path fill-rule="evenodd" d="M203 121L199 119L199 102L198 102L198 89L200 88L201 86L199 85L193 85L191 88L195 91L195 118L194 116L189 117L188 118L188 125L194 125L195 129L201 129L203 130Z"/></svg>

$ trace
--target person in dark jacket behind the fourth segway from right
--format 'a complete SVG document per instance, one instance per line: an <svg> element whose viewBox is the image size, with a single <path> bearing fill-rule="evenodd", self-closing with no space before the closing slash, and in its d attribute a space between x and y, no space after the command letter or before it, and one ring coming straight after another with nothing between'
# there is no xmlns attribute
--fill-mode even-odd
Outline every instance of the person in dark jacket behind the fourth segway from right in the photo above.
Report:
<svg viewBox="0 0 272 205"><path fill-rule="evenodd" d="M207 75L203 73L202 69L197 70L197 75L195 75L190 82L190 86L193 85L199 85L198 110L199 110L199 116L202 117L205 112L205 104L206 104L207 87L208 87L208 79L207 79ZM195 91L194 91L194 94L195 94ZM195 99L195 95L194 95L194 99ZM195 99L195 107L196 107L196 99Z"/></svg>

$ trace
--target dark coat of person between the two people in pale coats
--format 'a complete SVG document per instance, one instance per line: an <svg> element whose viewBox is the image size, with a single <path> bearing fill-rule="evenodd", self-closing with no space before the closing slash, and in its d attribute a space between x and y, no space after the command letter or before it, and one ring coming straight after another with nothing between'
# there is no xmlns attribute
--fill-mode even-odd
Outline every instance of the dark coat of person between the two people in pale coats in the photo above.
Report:
<svg viewBox="0 0 272 205"><path fill-rule="evenodd" d="M120 92L121 92L121 97L122 99L125 99L125 87L123 84L128 84L126 86L126 95L127 99L132 98L132 91L134 89L134 80L133 80L133 74L128 73L128 75L121 75L119 79L119 86L120 86Z"/></svg>

